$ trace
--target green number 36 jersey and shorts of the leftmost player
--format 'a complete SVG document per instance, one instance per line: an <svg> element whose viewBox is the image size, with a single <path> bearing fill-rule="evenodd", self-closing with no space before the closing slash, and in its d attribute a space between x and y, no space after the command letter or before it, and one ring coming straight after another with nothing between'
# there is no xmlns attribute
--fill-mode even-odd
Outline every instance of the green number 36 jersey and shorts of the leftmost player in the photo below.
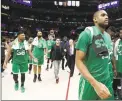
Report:
<svg viewBox="0 0 122 101"><path fill-rule="evenodd" d="M19 49L12 49L12 72L14 74L28 71L28 52L25 50L24 42L19 43Z"/></svg>

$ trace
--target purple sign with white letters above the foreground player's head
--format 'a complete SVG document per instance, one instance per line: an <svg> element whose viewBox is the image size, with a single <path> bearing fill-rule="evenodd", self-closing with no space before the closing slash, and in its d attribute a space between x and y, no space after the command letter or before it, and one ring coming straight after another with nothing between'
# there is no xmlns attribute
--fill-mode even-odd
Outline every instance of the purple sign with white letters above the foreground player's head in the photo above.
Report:
<svg viewBox="0 0 122 101"><path fill-rule="evenodd" d="M99 4L98 10L113 8L113 7L118 7L118 6L119 6L119 1L112 1L108 3Z"/></svg>

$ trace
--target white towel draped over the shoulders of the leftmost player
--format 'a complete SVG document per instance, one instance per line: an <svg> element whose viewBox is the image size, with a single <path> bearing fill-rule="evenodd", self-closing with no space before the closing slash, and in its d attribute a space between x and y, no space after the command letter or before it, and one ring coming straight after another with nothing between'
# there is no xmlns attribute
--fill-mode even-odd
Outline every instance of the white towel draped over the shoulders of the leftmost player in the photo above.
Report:
<svg viewBox="0 0 122 101"><path fill-rule="evenodd" d="M26 40L24 40L24 47L25 47L25 50L29 50L29 45L28 45L28 42ZM18 38L16 38L14 41L13 41L13 45L12 45L12 49L19 49L19 41L18 41Z"/></svg>

